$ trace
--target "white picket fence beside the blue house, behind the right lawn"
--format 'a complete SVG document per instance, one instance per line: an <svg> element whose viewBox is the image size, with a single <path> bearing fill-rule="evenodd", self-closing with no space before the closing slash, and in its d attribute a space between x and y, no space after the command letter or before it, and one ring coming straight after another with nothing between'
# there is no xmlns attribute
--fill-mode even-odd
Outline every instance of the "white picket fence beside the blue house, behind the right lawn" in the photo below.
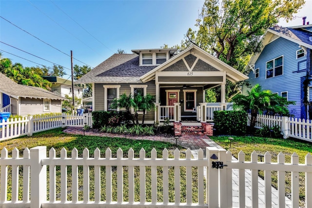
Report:
<svg viewBox="0 0 312 208"><path fill-rule="evenodd" d="M251 115L248 114L247 125L250 125ZM312 142L312 123L311 120L297 119L290 117L257 115L255 127L262 128L264 125L273 127L279 126L283 137L296 138L308 142Z"/></svg>

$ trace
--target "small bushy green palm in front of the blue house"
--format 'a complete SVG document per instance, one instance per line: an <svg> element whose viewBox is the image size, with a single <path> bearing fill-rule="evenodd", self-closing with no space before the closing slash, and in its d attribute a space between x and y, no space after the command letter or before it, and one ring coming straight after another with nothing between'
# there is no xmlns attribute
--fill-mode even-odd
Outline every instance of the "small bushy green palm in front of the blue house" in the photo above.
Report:
<svg viewBox="0 0 312 208"><path fill-rule="evenodd" d="M293 101L287 101L286 98L273 94L271 90L262 90L259 84L254 85L248 95L237 94L232 101L234 108L240 108L251 114L250 127L254 129L257 114L289 116L287 108Z"/></svg>

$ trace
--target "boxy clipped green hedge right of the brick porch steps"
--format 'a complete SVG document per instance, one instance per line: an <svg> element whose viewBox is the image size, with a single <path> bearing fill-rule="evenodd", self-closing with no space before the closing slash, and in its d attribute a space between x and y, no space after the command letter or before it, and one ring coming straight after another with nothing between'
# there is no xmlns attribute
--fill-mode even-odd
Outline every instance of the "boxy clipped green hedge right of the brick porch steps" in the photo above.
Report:
<svg viewBox="0 0 312 208"><path fill-rule="evenodd" d="M247 126L247 113L242 110L215 111L214 122L217 134L245 135Z"/></svg>

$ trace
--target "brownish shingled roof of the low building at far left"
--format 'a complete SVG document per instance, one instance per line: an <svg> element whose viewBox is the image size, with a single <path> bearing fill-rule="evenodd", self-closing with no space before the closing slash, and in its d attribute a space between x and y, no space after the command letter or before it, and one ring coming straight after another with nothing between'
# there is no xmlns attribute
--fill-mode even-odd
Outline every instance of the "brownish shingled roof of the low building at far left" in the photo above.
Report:
<svg viewBox="0 0 312 208"><path fill-rule="evenodd" d="M53 92L42 89L40 87L18 84L2 73L0 73L0 80L0 92L9 95L15 99L19 99L19 97L26 97L67 100L54 94Z"/></svg>

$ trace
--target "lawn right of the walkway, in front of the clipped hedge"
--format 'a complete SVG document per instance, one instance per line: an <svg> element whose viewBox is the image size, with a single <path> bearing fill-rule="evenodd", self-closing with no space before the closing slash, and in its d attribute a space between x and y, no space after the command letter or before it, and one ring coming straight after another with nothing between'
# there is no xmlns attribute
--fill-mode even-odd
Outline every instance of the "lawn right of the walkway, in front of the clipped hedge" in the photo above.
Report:
<svg viewBox="0 0 312 208"><path fill-rule="evenodd" d="M277 162L277 155L283 152L285 155L285 163L291 163L291 156L296 152L299 156L299 163L305 163L305 156L312 152L312 144L294 139L277 139L263 138L250 136L231 136L234 138L230 148L230 140L228 136L213 136L211 137L217 144L231 151L235 158L238 158L238 153L242 150L245 153L245 160L251 161L251 153L256 151L258 154L269 152L272 155L272 162ZM260 177L264 176L263 171L259 171ZM277 172L272 171L272 184L277 188ZM291 172L286 172L285 176L286 195L291 196ZM305 199L305 174L299 173L299 198L300 206L304 204Z"/></svg>

